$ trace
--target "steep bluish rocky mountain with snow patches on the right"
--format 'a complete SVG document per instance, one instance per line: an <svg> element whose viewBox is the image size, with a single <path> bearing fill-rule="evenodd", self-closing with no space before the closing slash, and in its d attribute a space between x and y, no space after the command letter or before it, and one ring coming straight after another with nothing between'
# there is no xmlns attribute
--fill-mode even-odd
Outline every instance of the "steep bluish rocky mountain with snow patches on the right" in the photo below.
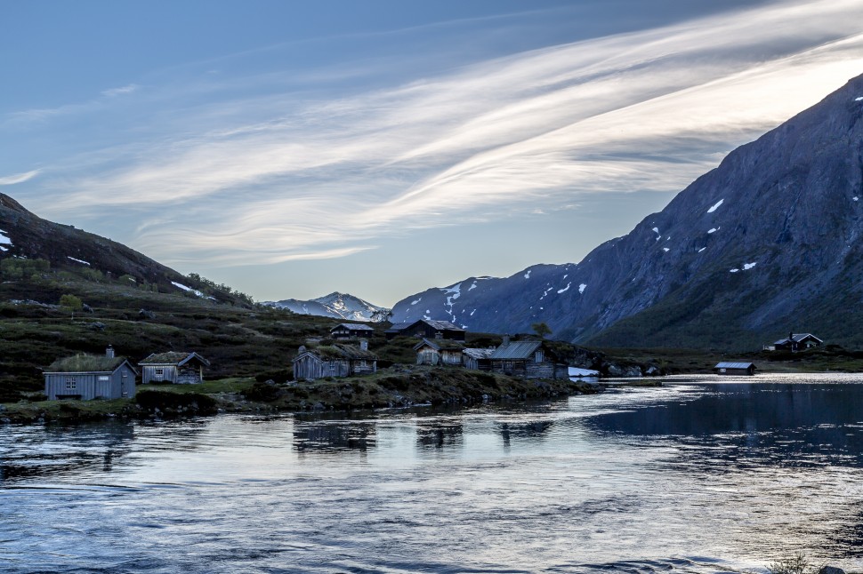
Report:
<svg viewBox="0 0 863 574"><path fill-rule="evenodd" d="M746 349L789 331L863 344L863 76L738 147L632 232L578 264L417 293L474 331L614 347Z"/></svg>

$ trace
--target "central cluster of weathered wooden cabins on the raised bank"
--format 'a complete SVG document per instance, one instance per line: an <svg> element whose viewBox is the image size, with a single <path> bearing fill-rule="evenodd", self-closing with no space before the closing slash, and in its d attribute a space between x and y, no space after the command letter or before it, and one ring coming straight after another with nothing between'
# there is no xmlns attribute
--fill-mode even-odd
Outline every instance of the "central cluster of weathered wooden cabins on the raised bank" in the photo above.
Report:
<svg viewBox="0 0 863 574"><path fill-rule="evenodd" d="M300 347L294 358L294 379L349 377L377 370L377 356L368 350L372 329L367 325L342 323L330 331L330 337L343 341L359 339L359 345L334 343L308 349ZM414 323L396 323L385 332L386 339L413 337L417 364L448 365L478 371L493 371L526 379L565 379L569 368L553 360L553 353L543 340L512 341L504 337L499 347L473 348L465 344L466 332L446 321L421 319Z"/></svg>

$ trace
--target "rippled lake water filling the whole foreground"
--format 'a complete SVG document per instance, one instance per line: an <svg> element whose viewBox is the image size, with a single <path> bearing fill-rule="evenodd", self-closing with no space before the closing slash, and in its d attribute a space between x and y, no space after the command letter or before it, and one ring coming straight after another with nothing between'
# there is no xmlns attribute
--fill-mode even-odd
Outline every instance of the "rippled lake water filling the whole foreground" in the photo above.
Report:
<svg viewBox="0 0 863 574"><path fill-rule="evenodd" d="M0 427L0 570L863 567L863 379L666 380L463 411Z"/></svg>

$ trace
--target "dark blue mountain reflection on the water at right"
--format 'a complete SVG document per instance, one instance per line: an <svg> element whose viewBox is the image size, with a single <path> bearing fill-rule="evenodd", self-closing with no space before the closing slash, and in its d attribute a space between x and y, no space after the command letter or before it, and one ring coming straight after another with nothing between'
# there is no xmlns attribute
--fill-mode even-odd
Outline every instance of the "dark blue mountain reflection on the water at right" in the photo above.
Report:
<svg viewBox="0 0 863 574"><path fill-rule="evenodd" d="M695 400L602 414L602 434L670 439L699 464L863 466L863 385L726 384Z"/></svg>

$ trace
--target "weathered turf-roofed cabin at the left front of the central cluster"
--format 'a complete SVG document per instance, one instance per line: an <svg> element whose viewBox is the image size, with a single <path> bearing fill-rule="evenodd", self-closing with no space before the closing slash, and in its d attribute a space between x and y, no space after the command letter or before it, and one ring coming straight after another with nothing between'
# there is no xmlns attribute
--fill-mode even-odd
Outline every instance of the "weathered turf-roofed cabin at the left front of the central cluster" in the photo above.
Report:
<svg viewBox="0 0 863 574"><path fill-rule="evenodd" d="M377 371L377 355L362 340L359 347L335 343L327 347L300 347L294 357L294 379L314 380L325 377L351 377Z"/></svg>

